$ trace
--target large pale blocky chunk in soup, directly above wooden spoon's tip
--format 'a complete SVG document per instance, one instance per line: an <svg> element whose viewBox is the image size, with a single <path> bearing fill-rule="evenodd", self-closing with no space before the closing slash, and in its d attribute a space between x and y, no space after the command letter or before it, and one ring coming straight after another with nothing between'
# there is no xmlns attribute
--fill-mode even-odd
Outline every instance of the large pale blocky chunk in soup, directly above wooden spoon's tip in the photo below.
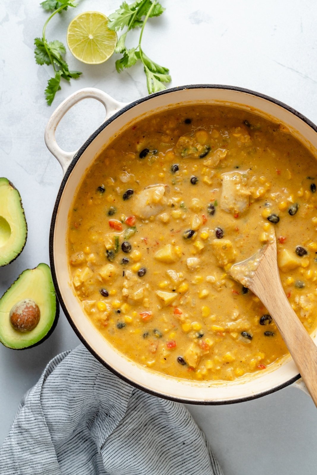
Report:
<svg viewBox="0 0 317 475"><path fill-rule="evenodd" d="M228 213L242 213L249 207L247 172L231 171L221 175L220 207Z"/></svg>

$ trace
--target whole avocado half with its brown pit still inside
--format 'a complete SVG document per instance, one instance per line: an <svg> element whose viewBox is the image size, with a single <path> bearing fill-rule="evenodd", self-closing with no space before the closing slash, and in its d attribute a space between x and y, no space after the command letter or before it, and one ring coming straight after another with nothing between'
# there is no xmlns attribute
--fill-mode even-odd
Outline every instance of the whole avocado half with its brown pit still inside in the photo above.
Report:
<svg viewBox="0 0 317 475"><path fill-rule="evenodd" d="M53 332L58 315L48 265L27 269L0 299L0 342L13 350L36 346Z"/></svg>

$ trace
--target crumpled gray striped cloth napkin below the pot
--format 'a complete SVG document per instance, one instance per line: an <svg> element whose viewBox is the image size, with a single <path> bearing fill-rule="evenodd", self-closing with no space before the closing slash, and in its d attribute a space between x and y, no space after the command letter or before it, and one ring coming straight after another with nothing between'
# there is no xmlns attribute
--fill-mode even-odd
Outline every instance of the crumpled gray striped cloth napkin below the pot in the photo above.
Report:
<svg viewBox="0 0 317 475"><path fill-rule="evenodd" d="M48 363L0 449L1 475L221 475L182 404L137 390L83 345Z"/></svg>

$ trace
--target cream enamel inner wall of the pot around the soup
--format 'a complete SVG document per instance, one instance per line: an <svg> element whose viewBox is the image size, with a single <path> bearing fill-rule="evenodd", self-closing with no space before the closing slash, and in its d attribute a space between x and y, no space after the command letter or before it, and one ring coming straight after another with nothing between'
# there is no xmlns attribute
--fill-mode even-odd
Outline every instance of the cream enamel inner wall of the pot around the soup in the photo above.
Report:
<svg viewBox="0 0 317 475"><path fill-rule="evenodd" d="M67 312L77 331L101 361L132 383L166 398L195 403L235 402L237 399L261 395L296 378L298 370L290 357L271 365L258 374L245 375L234 381L187 381L165 376L127 359L118 352L94 327L74 294L67 264L67 219L74 195L86 169L102 149L127 125L154 111L187 104L223 104L255 112L263 117L286 125L317 156L317 133L302 119L267 99L256 95L221 88L195 88L171 91L154 96L125 111L86 148L71 171L62 192L54 229L54 265L58 287ZM313 335L316 342L316 332Z"/></svg>

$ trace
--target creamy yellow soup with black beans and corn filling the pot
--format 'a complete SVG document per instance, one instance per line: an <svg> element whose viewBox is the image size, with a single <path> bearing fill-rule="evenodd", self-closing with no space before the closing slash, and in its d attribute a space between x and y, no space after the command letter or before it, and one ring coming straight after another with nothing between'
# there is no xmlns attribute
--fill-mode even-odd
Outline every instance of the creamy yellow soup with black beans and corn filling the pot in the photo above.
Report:
<svg viewBox="0 0 317 475"><path fill-rule="evenodd" d="M118 136L69 215L86 315L133 361L233 380L287 354L266 308L227 275L268 241L298 318L316 326L317 166L285 127L228 107L180 107Z"/></svg>

